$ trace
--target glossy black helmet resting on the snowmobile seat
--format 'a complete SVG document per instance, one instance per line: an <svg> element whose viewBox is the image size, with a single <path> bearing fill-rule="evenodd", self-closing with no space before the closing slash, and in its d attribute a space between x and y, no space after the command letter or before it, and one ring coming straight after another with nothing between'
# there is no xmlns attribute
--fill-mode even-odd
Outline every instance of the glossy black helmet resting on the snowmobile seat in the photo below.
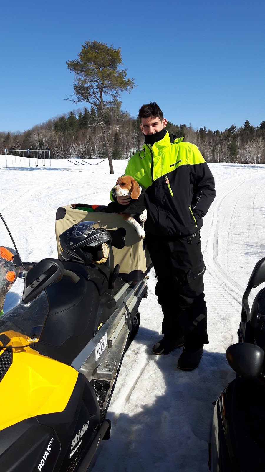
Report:
<svg viewBox="0 0 265 472"><path fill-rule="evenodd" d="M59 236L62 257L66 261L88 264L92 258L95 261L101 259L99 246L111 243L111 236L107 229L94 228L94 224L95 221L81 221Z"/></svg>

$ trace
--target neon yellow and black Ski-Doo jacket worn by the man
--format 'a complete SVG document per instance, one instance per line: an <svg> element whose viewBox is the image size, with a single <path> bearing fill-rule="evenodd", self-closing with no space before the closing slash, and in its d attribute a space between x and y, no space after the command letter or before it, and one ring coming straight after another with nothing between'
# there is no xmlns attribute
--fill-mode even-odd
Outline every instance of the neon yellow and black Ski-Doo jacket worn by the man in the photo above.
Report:
<svg viewBox="0 0 265 472"><path fill-rule="evenodd" d="M143 144L125 169L124 175L146 190L149 233L176 237L194 233L215 198L214 177L198 147L182 140L171 142L167 132L153 146Z"/></svg>

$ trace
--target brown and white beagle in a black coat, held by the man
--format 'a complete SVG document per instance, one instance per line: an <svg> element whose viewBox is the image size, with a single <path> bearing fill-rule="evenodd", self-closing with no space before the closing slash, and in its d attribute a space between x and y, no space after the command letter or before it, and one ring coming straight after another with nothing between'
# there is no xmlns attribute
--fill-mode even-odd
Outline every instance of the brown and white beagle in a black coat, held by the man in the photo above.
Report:
<svg viewBox="0 0 265 472"><path fill-rule="evenodd" d="M143 192L140 185L131 176L118 177L115 187L112 189L114 197L130 196L134 202L130 202L128 205L118 205L118 212L122 214L125 221L133 226L137 235L141 238L145 238L145 231L141 225L132 218L131 215L138 214L140 221L147 219L147 211L144 207ZM141 195L141 197L140 197ZM139 198L140 197L140 198Z"/></svg>

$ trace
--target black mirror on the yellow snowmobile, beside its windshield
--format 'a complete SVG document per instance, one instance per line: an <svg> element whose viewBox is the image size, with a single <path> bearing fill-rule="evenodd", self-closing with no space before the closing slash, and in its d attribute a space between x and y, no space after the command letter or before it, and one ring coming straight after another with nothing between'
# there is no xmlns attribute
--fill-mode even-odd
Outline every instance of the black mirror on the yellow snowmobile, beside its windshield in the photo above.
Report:
<svg viewBox="0 0 265 472"><path fill-rule="evenodd" d="M31 302L42 290L61 278L64 265L58 259L42 259L25 274L24 292L22 301Z"/></svg>

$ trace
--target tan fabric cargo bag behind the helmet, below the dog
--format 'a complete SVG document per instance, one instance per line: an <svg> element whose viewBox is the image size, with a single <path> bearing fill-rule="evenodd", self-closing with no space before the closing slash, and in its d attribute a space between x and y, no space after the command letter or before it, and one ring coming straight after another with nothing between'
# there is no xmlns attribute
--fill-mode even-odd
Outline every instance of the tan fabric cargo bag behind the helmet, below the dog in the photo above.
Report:
<svg viewBox="0 0 265 472"><path fill-rule="evenodd" d="M123 249L117 249L112 246L110 252L110 268L114 269L116 264L120 266L120 277L127 281L142 280L152 267L151 259L147 247L144 247L143 241L137 236L134 228L124 221L123 217L117 213L100 213L97 211L76 210L71 205L59 207L56 212L55 233L60 256L59 235L66 229L79 223L80 221L95 221L95 227L115 230L125 228L124 236L125 246ZM97 223L100 221L99 223Z"/></svg>

